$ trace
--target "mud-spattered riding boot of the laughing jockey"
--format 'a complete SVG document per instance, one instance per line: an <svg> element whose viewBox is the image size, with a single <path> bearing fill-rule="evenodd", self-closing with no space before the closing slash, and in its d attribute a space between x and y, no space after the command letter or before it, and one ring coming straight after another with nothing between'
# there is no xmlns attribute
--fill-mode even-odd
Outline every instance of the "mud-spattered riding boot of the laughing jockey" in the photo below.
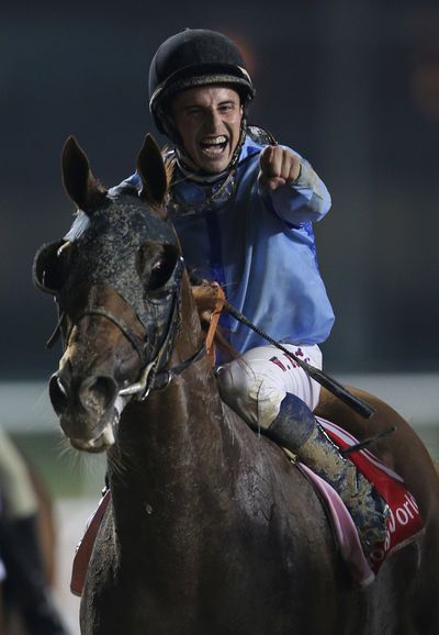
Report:
<svg viewBox="0 0 439 635"><path fill-rule="evenodd" d="M356 465L341 456L306 403L288 393L266 434L336 490L353 519L365 555L385 539L387 504Z"/></svg>

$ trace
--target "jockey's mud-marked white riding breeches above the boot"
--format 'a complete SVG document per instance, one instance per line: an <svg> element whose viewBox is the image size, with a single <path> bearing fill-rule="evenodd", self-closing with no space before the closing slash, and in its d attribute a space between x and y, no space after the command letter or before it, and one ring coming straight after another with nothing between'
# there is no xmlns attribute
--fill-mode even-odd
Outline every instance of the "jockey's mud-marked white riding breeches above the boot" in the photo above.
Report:
<svg viewBox="0 0 439 635"><path fill-rule="evenodd" d="M313 346L283 344L296 357L322 368L322 352ZM267 428L279 414L286 392L296 394L311 410L318 403L320 386L293 358L275 346L258 346L217 369L223 401L252 426Z"/></svg>

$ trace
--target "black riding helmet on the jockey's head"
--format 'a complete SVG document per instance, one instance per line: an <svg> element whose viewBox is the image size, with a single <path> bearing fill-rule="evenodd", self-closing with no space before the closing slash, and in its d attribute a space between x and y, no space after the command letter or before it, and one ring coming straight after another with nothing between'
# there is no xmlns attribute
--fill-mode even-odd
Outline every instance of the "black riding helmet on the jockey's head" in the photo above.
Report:
<svg viewBox="0 0 439 635"><path fill-rule="evenodd" d="M172 136L166 125L166 104L187 88L226 83L243 105L255 96L244 58L232 40L206 29L187 29L166 40L149 67L149 109L157 129Z"/></svg>

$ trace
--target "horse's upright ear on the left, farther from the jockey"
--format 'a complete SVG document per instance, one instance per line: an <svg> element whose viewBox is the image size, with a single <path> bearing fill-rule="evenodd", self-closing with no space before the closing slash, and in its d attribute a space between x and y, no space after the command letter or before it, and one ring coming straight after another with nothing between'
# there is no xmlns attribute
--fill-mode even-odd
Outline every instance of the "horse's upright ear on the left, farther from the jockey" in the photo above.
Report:
<svg viewBox="0 0 439 635"><path fill-rule="evenodd" d="M63 148L63 180L70 199L86 212L97 207L106 190L93 177L90 161L74 136L69 136Z"/></svg>

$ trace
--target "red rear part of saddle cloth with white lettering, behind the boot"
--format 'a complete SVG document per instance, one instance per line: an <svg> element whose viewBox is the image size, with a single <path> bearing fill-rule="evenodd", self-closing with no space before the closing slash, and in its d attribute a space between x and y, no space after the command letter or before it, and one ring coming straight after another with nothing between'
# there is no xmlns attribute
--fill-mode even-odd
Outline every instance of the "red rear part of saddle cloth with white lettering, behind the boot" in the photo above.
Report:
<svg viewBox="0 0 439 635"><path fill-rule="evenodd" d="M358 439L338 425L323 419L318 419L318 422L340 449L358 443ZM403 479L396 472L365 449L353 452L349 458L373 483L390 508L386 538L383 543L378 543L369 556L370 566L373 572L378 573L391 552L412 542L423 530L423 519L414 495L406 489Z"/></svg>

